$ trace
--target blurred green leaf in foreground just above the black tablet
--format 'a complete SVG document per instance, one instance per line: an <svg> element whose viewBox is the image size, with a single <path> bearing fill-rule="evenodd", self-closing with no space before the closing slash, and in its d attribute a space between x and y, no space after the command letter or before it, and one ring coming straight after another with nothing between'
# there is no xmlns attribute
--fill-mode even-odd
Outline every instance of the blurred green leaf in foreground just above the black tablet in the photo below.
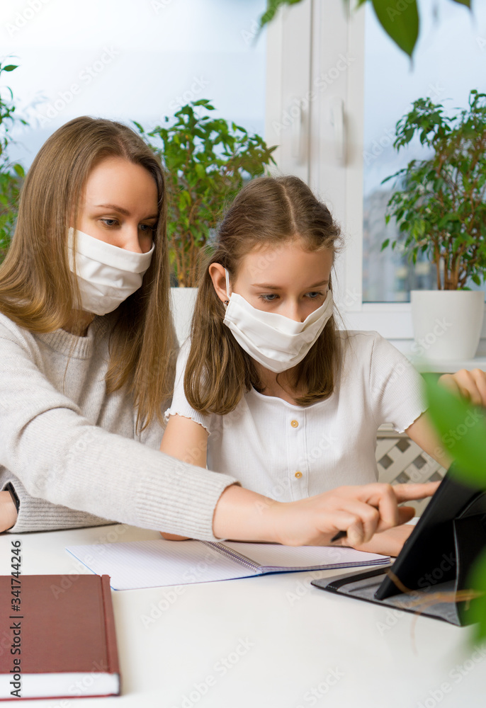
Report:
<svg viewBox="0 0 486 708"><path fill-rule="evenodd" d="M429 416L461 476L486 489L486 414L424 375Z"/></svg>

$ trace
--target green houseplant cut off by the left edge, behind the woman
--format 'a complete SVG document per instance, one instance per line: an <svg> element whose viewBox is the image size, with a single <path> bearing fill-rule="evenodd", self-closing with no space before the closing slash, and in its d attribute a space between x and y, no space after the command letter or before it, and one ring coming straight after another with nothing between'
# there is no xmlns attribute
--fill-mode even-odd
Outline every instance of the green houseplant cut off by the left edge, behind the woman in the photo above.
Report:
<svg viewBox="0 0 486 708"><path fill-rule="evenodd" d="M0 76L4 72L13 72L15 64L0 64ZM5 93L9 98L4 98ZM3 94L3 95L2 95ZM0 91L0 262L3 261L9 248L17 217L18 193L23 183L25 173L21 164L9 159L9 145L12 142L9 132L16 122L27 125L22 118L15 115L13 93L9 87Z"/></svg>

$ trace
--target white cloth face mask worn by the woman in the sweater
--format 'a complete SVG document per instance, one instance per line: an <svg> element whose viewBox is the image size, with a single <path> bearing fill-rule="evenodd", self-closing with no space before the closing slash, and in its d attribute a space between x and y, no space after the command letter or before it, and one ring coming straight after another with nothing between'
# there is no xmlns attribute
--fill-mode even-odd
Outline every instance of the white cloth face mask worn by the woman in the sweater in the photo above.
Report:
<svg viewBox="0 0 486 708"><path fill-rule="evenodd" d="M74 229L68 232L69 268L74 273ZM126 251L77 231L76 275L81 306L86 312L107 314L138 290L148 270L154 244L148 253Z"/></svg>

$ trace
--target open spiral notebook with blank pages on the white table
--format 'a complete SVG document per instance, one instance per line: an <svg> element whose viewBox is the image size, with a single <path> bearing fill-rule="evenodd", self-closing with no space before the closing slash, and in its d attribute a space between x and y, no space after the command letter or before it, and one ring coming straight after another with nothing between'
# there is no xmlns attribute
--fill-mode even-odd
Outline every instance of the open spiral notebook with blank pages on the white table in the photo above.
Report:
<svg viewBox="0 0 486 708"><path fill-rule="evenodd" d="M91 571L111 577L113 590L210 583L264 573L387 564L390 556L353 548L210 541L130 541L68 546Z"/></svg>

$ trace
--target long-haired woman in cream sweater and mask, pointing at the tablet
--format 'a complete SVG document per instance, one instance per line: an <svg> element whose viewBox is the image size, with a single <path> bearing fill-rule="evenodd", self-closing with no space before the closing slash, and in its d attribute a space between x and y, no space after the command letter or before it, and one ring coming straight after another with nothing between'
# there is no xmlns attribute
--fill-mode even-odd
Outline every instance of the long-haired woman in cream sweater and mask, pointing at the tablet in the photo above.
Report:
<svg viewBox="0 0 486 708"><path fill-rule="evenodd" d="M165 228L162 168L128 127L77 118L33 161L0 267L0 530L324 544L403 520L433 486L275 503L154 449L176 346Z"/></svg>

